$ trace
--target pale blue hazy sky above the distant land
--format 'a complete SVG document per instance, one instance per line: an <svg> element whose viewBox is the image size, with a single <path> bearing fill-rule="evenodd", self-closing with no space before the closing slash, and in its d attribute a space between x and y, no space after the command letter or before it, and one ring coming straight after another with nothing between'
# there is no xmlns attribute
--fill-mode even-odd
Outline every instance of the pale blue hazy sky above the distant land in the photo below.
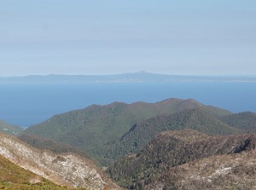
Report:
<svg viewBox="0 0 256 190"><path fill-rule="evenodd" d="M0 76L142 70L256 75L256 1L0 1Z"/></svg>

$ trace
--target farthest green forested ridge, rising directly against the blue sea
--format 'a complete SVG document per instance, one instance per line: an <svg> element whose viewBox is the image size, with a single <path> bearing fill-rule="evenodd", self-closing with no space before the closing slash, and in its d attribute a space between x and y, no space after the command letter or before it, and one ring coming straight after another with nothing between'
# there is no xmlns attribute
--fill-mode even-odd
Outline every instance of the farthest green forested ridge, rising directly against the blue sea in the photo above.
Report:
<svg viewBox="0 0 256 190"><path fill-rule="evenodd" d="M42 124L25 130L26 135L38 135L77 147L101 164L108 164L108 145L119 140L131 127L145 119L185 109L204 107L217 116L231 112L207 107L194 100L168 99L157 103L114 102L106 106L92 105L82 110L55 115Z"/></svg>

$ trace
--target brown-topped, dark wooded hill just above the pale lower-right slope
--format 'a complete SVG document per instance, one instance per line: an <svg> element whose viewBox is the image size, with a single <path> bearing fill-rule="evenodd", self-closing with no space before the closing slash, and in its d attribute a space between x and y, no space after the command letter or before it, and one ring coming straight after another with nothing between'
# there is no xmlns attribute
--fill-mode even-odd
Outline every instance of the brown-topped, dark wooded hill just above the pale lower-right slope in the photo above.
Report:
<svg viewBox="0 0 256 190"><path fill-rule="evenodd" d="M194 130L165 131L141 152L117 161L108 173L122 187L144 189L175 166L201 158L250 151L255 147L256 134L210 136ZM161 184L163 188L152 189L176 189L168 182Z"/></svg>

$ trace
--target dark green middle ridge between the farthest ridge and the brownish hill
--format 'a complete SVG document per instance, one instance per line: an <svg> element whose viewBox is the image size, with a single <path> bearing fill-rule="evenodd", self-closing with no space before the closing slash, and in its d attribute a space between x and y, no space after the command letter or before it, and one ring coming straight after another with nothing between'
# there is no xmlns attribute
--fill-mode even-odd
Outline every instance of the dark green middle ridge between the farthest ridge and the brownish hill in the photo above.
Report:
<svg viewBox="0 0 256 190"><path fill-rule="evenodd" d="M205 107L186 109L170 115L148 118L135 124L119 141L111 145L108 157L117 159L127 153L138 153L149 141L166 130L197 130L211 135L231 135L243 131L224 124Z"/></svg>

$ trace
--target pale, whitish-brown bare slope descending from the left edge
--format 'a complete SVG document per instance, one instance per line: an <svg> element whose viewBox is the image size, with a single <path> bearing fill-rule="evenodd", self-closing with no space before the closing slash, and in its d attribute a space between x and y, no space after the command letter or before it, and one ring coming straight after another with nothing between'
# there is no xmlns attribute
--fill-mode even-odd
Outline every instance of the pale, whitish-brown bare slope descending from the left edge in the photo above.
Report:
<svg viewBox="0 0 256 190"><path fill-rule="evenodd" d="M14 136L0 133L0 155L49 181L67 187L118 189L89 159L73 153L55 154L28 146Z"/></svg>

